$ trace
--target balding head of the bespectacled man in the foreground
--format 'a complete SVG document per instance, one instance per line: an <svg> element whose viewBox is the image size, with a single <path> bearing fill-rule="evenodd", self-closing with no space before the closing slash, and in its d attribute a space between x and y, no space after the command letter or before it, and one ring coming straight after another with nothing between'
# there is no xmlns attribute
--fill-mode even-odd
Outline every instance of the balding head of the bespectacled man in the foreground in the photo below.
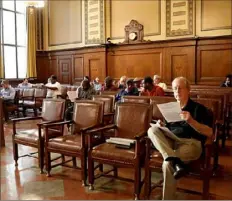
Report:
<svg viewBox="0 0 232 201"><path fill-rule="evenodd" d="M177 77L172 81L174 97L177 101L186 102L189 99L190 83L185 77Z"/></svg>

